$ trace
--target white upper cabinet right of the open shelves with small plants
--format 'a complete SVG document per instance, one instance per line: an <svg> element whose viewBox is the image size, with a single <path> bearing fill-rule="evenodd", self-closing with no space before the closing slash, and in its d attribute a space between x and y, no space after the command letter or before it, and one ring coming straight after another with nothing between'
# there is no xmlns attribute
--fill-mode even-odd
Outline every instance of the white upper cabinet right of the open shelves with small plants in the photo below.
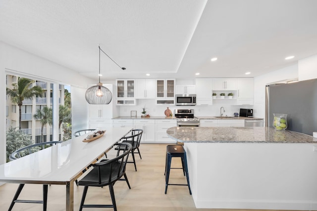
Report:
<svg viewBox="0 0 317 211"><path fill-rule="evenodd" d="M237 105L254 104L254 79L238 78L237 79Z"/></svg>

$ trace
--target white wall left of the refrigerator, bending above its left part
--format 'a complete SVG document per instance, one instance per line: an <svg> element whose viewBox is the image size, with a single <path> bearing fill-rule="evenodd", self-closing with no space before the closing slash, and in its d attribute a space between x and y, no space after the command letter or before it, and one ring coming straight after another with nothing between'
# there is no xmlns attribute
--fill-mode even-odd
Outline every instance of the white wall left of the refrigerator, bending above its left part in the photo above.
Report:
<svg viewBox="0 0 317 211"><path fill-rule="evenodd" d="M254 116L265 118L265 85L298 78L298 65L292 65L254 78Z"/></svg>

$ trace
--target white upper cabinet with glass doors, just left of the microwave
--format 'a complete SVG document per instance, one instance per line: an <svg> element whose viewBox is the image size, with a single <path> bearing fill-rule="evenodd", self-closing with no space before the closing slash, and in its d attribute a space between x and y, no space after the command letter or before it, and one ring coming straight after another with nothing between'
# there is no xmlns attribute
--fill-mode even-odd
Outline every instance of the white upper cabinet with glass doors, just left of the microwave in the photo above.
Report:
<svg viewBox="0 0 317 211"><path fill-rule="evenodd" d="M156 104L175 105L175 79L156 80Z"/></svg>

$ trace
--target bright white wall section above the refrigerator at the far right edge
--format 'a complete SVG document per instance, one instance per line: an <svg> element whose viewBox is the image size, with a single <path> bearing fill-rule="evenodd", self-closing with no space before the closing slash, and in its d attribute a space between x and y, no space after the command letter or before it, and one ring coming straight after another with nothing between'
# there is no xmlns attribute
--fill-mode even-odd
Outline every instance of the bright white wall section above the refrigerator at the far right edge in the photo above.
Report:
<svg viewBox="0 0 317 211"><path fill-rule="evenodd" d="M300 81L317 78L317 55L302 59L298 62Z"/></svg>

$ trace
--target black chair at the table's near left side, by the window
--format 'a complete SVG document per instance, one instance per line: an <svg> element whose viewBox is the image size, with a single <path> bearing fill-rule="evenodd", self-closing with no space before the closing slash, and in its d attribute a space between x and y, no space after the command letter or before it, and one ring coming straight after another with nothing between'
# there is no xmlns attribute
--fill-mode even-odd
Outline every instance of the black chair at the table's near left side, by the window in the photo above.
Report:
<svg viewBox="0 0 317 211"><path fill-rule="evenodd" d="M61 143L62 141L47 141L42 143L31 144L25 147L22 147L16 151L14 151L10 156L10 161L19 159L23 156L32 154L34 152L40 151L42 149L47 148L48 146L52 146L53 144ZM43 184L43 201L40 200L19 200L18 197L23 189L25 184L19 184L18 189L15 192L15 195L12 199L10 207L8 211L11 211L15 203L36 203L36 204L43 204L43 211L47 209L47 202L48 202L48 185Z"/></svg>

